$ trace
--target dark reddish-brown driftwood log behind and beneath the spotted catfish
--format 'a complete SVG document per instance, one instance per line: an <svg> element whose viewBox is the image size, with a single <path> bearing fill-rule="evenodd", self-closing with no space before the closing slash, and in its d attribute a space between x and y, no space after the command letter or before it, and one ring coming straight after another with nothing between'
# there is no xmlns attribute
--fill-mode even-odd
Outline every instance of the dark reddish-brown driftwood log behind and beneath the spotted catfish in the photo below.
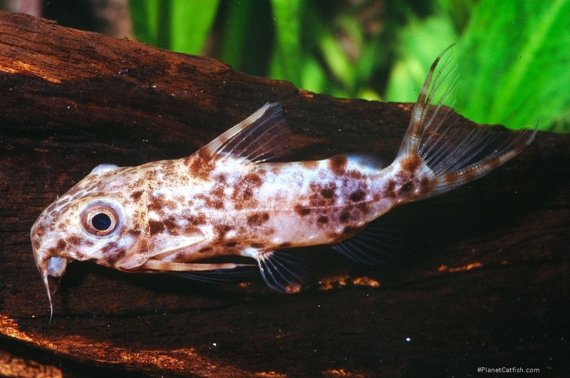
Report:
<svg viewBox="0 0 570 378"><path fill-rule="evenodd" d="M207 285L76 263L50 325L29 229L95 165L187 156L266 101L284 105L291 159L389 160L411 105L315 95L16 14L0 14L0 89L0 374L568 373L568 135L539 132L487 177L394 211L410 241L394 263L315 251L315 279L297 295L257 275Z"/></svg>

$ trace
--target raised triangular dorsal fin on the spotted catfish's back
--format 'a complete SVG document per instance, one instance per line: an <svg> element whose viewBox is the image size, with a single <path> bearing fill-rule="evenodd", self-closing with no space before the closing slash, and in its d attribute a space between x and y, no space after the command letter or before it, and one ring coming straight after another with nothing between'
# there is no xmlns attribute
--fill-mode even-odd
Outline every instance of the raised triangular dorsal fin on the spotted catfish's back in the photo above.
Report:
<svg viewBox="0 0 570 378"><path fill-rule="evenodd" d="M290 135L281 103L266 103L202 149L213 157L231 155L249 162L266 162L289 152L286 141Z"/></svg>

